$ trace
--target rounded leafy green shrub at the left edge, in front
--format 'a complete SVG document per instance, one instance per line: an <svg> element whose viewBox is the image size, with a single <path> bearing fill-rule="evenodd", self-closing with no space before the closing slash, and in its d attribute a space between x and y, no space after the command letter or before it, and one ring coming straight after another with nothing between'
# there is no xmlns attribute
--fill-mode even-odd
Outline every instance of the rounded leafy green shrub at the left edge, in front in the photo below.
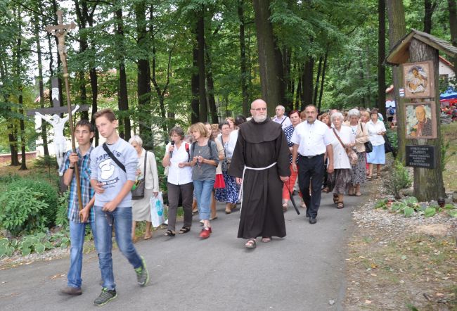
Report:
<svg viewBox="0 0 457 311"><path fill-rule="evenodd" d="M0 227L13 236L22 232L41 231L45 228L46 217L42 210L49 208L44 194L32 189L13 188L0 195Z"/></svg>

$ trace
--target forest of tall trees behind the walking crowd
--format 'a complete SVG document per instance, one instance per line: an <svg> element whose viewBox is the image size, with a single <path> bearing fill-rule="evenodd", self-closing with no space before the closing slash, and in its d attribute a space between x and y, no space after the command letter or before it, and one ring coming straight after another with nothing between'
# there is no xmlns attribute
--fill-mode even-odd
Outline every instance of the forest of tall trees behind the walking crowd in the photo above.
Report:
<svg viewBox="0 0 457 311"><path fill-rule="evenodd" d="M0 0L0 153L22 169L18 153L38 135L49 152L50 127L36 131L26 111L52 106L62 68L45 27L58 9L77 24L66 42L72 103L112 108L121 137L141 134L146 148L176 124L248 115L259 97L270 114L278 103L385 114L390 42L414 28L457 45L455 0Z"/></svg>

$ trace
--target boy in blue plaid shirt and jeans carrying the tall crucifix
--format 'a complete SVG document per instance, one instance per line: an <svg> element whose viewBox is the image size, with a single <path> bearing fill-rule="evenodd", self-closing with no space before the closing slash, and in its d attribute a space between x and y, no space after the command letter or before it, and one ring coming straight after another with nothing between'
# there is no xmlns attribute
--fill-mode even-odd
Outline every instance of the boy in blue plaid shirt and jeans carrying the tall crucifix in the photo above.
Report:
<svg viewBox="0 0 457 311"><path fill-rule="evenodd" d="M80 120L75 127L75 139L78 141L76 153L67 151L63 156L63 165L60 166L60 173L63 175L63 183L70 186L70 197L68 198L68 224L70 224L70 269L67 273L67 286L60 292L76 296L81 295L81 270L82 270L82 249L86 225L91 227L96 241L96 226L94 210L94 189L90 183L90 155L94 149L91 145L91 138L94 137L94 126L87 120ZM79 211L77 196L77 179L75 166L78 166L79 184L81 188L81 199L84 208ZM88 175L89 172L89 175Z"/></svg>

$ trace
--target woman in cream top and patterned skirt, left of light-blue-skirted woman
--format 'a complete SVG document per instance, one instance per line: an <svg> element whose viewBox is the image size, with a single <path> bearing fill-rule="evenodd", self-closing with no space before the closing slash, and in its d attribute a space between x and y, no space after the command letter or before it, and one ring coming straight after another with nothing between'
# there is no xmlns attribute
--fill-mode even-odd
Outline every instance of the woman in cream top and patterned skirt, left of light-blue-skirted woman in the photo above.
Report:
<svg viewBox="0 0 457 311"><path fill-rule="evenodd" d="M351 183L352 186L349 186L349 191L347 194L349 196L361 196L360 185L364 184L366 181L366 151L365 143L369 141L368 129L366 125L363 125L362 122L359 122L360 113L357 109L351 109L348 112L349 122L347 125L351 129L352 136L355 139L355 148L357 153L357 163L352 165L351 172Z"/></svg>

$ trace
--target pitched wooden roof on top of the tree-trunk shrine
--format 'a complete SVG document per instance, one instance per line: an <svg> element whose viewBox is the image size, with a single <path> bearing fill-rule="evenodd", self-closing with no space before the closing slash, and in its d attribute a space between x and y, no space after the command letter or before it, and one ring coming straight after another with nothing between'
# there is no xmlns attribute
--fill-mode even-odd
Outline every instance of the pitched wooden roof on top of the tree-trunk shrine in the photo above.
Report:
<svg viewBox="0 0 457 311"><path fill-rule="evenodd" d="M420 42L432 46L434 49L442 51L446 55L454 58L457 56L457 47L452 46L449 42L444 39L433 36L432 34L427 34L427 32L421 32L419 30L411 30L403 38L395 44L395 46L390 50L389 55L385 58L385 63L389 65L399 65L402 63L407 63L409 59L409 44L411 44L412 39L418 39Z"/></svg>

